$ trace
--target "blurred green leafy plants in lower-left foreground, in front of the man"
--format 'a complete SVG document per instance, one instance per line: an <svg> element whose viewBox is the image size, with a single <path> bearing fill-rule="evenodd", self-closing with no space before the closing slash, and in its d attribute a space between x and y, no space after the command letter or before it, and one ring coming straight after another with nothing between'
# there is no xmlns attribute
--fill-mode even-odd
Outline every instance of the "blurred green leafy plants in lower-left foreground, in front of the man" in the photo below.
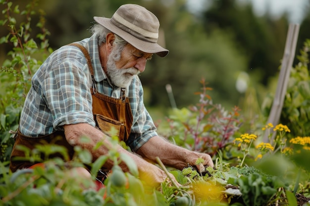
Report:
<svg viewBox="0 0 310 206"><path fill-rule="evenodd" d="M87 138L83 141L87 141ZM113 137L111 142L108 154L94 163L91 163L91 154L80 147L74 148L73 160L66 163L57 158L41 160L44 162L43 167L17 170L14 173L3 169L7 167L0 163L0 205L168 206L162 193L146 189L138 178L138 169L133 160L117 152L118 138ZM102 142L98 143L101 144ZM55 145L45 145L44 148L28 150L28 158L37 157L39 151L45 156L65 151L65 148ZM26 151L25 148L24 150ZM38 158L36 160L40 161ZM104 187L99 191L96 191L95 176L83 178L74 172L76 167L89 165L93 174L97 174L96 171L107 161L113 162L114 166L104 181ZM118 166L120 163L126 164L129 172L123 172Z"/></svg>

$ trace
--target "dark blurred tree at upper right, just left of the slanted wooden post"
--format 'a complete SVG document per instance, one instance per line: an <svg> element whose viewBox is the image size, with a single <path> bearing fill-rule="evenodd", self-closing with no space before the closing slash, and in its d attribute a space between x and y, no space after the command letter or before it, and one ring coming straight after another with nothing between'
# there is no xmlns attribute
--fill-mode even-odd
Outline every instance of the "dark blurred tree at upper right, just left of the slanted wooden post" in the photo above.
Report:
<svg viewBox="0 0 310 206"><path fill-rule="evenodd" d="M278 72L288 29L286 15L273 20L270 14L258 17L252 4L238 4L234 0L214 0L204 13L208 33L223 29L233 35L249 59L247 71L260 75L259 81L267 85L269 77ZM254 72L253 72L254 71ZM259 72L256 72L259 71Z"/></svg>

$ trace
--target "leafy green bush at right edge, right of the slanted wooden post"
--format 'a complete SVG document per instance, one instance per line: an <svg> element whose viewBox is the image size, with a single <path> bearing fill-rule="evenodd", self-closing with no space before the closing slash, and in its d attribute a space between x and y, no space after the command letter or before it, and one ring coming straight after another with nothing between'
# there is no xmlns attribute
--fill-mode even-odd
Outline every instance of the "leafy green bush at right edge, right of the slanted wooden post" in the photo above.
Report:
<svg viewBox="0 0 310 206"><path fill-rule="evenodd" d="M299 62L291 70L290 79L285 94L280 122L287 125L291 134L288 139L296 136L310 136L310 76L309 76L310 39L304 42L304 47L297 55ZM273 97L264 100L262 110L271 108ZM269 103L267 103L269 102Z"/></svg>

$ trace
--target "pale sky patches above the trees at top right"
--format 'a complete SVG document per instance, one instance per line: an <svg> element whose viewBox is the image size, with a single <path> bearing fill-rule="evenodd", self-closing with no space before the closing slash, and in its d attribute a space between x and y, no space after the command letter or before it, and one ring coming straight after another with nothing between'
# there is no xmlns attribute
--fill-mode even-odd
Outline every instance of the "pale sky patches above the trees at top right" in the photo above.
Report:
<svg viewBox="0 0 310 206"><path fill-rule="evenodd" d="M188 0L188 6L192 11L207 8L213 0ZM310 10L310 0L238 0L240 3L252 1L254 12L263 15L268 10L274 18L278 18L283 12L288 12L290 23L301 23L307 9Z"/></svg>

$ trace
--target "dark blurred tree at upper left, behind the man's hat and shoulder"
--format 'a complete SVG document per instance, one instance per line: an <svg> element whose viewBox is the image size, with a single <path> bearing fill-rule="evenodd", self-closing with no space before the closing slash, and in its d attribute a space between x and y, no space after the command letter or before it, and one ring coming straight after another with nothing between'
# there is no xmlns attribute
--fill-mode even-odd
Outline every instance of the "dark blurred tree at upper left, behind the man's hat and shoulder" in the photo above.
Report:
<svg viewBox="0 0 310 206"><path fill-rule="evenodd" d="M127 2L126 2L127 1ZM48 29L52 33L51 46L58 48L73 41L89 37L88 31L94 24L93 16L110 18L124 3L139 3L141 0L54 0L42 1L47 10Z"/></svg>

